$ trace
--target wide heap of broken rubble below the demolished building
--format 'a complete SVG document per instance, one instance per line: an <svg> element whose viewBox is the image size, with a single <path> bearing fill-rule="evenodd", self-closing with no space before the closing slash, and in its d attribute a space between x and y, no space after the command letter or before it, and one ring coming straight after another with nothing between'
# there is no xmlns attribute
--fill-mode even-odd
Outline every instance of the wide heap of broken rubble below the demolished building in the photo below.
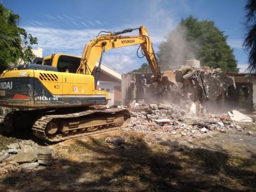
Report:
<svg viewBox="0 0 256 192"><path fill-rule="evenodd" d="M180 106L162 103L138 106L137 103L130 105L130 109L131 122L128 129L142 133L156 131L183 137L200 137L201 134L214 131L223 133L229 130L243 131L241 122L252 123L252 119L248 116L244 118L246 121L237 122L230 115L231 113L207 114L199 102L192 101L183 101ZM234 114L237 114L237 111L234 111Z"/></svg>

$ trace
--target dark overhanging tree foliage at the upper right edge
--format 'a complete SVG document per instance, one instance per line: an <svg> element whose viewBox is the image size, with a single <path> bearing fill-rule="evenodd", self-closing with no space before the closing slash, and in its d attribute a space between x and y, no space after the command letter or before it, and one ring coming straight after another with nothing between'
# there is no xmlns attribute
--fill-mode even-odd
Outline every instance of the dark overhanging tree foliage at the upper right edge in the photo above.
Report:
<svg viewBox="0 0 256 192"><path fill-rule="evenodd" d="M251 73L256 73L256 0L248 0L245 11L247 33L243 46L249 54L247 70Z"/></svg>

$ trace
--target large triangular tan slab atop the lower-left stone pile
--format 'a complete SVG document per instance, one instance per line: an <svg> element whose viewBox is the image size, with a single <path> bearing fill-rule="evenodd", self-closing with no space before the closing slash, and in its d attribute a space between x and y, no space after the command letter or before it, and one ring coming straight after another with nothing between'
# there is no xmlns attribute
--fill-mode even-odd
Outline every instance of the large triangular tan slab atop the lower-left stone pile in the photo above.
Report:
<svg viewBox="0 0 256 192"><path fill-rule="evenodd" d="M34 162L36 160L36 155L29 145L24 145L21 150L14 156L13 161L17 163L28 163Z"/></svg>

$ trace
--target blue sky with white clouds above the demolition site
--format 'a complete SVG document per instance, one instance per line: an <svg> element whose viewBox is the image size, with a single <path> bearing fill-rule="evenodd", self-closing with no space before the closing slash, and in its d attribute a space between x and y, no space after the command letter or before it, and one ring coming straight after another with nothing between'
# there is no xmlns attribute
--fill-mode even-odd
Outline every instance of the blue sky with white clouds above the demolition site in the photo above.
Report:
<svg viewBox="0 0 256 192"><path fill-rule="evenodd" d="M4 0L2 3L20 15L20 26L38 38L44 56L52 53L81 56L84 45L99 31L120 31L141 25L150 33L157 52L160 42L181 18L193 15L199 20L214 20L228 35L228 45L234 49L239 67L246 68L247 54L242 49L245 0ZM121 73L136 69L146 62L137 58L137 48L110 50L104 54L103 62Z"/></svg>

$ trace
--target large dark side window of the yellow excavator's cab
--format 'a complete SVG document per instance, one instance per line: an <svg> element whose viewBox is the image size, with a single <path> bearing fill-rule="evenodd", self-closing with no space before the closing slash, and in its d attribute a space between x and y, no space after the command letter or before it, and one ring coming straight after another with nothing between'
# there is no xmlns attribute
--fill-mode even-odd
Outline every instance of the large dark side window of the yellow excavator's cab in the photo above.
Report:
<svg viewBox="0 0 256 192"><path fill-rule="evenodd" d="M80 58L61 55L57 63L58 72L66 72L68 70L69 73L76 73L80 60Z"/></svg>

